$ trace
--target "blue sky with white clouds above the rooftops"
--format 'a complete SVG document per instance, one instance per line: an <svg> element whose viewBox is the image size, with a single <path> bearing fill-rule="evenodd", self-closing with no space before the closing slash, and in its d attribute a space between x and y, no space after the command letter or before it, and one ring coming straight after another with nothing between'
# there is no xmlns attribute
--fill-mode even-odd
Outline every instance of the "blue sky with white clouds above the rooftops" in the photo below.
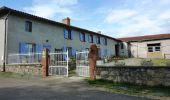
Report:
<svg viewBox="0 0 170 100"><path fill-rule="evenodd" d="M170 33L170 0L0 0L24 11L121 38Z"/></svg>

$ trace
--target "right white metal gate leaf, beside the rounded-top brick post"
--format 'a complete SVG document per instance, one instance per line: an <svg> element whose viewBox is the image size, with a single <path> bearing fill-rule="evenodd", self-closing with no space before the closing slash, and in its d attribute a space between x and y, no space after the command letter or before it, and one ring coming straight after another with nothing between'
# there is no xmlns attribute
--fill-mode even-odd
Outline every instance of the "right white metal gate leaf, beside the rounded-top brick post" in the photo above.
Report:
<svg viewBox="0 0 170 100"><path fill-rule="evenodd" d="M76 73L78 76L89 77L89 51L76 52Z"/></svg>

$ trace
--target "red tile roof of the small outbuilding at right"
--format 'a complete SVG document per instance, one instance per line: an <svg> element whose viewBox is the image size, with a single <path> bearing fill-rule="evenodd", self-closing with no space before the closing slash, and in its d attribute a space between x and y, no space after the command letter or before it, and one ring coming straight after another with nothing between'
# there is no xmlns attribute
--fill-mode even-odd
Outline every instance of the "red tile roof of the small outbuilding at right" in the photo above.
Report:
<svg viewBox="0 0 170 100"><path fill-rule="evenodd" d="M170 39L170 33L136 36L136 37L125 37L125 38L118 38L118 39L123 41L123 42L162 40L162 39Z"/></svg>

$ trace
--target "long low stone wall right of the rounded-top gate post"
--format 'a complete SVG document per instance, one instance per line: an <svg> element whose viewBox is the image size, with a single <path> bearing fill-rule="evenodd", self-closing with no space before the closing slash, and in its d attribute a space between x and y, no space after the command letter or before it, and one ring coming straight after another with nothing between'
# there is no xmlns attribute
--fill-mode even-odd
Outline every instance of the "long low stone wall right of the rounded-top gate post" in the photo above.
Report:
<svg viewBox="0 0 170 100"><path fill-rule="evenodd" d="M128 82L149 86L170 86L170 67L96 67L96 75L113 82Z"/></svg>

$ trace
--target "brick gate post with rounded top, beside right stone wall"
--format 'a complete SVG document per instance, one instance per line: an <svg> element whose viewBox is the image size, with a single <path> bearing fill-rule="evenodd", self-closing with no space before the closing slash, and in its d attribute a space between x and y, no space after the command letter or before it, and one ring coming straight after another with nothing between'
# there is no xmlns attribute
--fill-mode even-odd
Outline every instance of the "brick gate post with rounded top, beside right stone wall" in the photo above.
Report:
<svg viewBox="0 0 170 100"><path fill-rule="evenodd" d="M98 49L95 44L92 44L90 46L88 58L89 58L90 80L95 80L96 79L96 75L95 75L96 61L98 58Z"/></svg>

